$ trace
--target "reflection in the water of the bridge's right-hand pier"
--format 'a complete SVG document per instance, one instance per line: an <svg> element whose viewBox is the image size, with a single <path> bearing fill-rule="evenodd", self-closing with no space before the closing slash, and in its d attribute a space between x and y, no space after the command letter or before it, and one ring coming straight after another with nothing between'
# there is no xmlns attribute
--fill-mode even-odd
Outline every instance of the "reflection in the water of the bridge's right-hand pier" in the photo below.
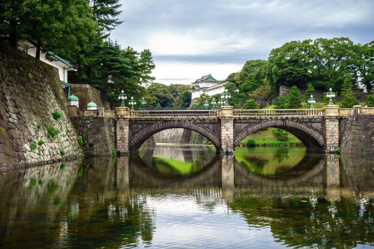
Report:
<svg viewBox="0 0 374 249"><path fill-rule="evenodd" d="M340 166L337 154L328 154L326 160L326 199L340 199Z"/></svg>

